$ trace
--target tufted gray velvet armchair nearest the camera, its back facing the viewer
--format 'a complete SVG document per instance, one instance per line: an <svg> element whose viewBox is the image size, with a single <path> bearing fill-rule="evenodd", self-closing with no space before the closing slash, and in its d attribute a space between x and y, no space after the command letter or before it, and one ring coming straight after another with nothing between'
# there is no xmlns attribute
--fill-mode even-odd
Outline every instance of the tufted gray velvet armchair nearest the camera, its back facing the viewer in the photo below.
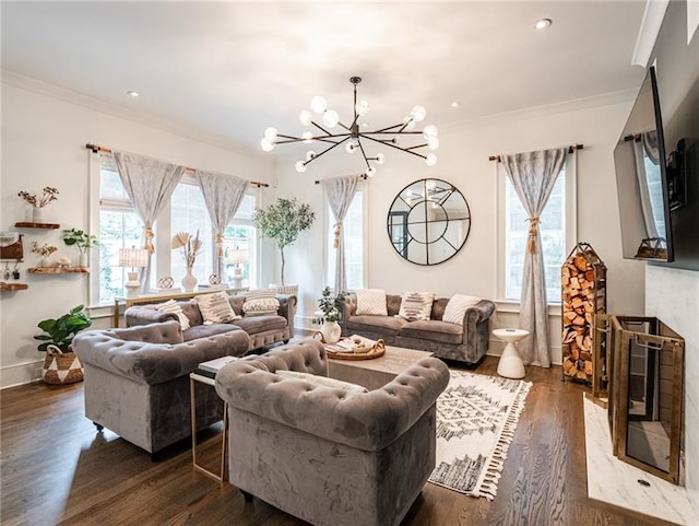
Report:
<svg viewBox="0 0 699 526"><path fill-rule="evenodd" d="M398 526L435 468L436 400L449 370L426 358L384 387L345 391L316 340L235 361L216 375L228 402L229 479L316 526Z"/></svg>

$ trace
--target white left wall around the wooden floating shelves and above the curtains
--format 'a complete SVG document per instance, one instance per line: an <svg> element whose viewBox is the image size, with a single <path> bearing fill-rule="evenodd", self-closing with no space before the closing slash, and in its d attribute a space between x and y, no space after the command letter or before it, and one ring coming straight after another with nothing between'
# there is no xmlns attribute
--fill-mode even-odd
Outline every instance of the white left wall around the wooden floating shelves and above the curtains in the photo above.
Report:
<svg viewBox="0 0 699 526"><path fill-rule="evenodd" d="M84 101L70 102L71 94L50 86L26 82L31 91L19 86L22 81L7 77L2 83L2 178L0 187L0 229L15 230L16 221L27 220L28 207L17 191L40 194L45 186L60 191L58 201L45 209L46 222L61 227L85 227L88 221L88 152L86 142L132 151L194 168L237 175L251 180L272 183L274 160L247 153L234 145L213 145L152 126L91 109ZM39 92L50 92L47 96ZM60 97L60 98L59 98ZM273 188L262 191L266 201ZM269 197L268 197L269 194ZM58 317L69 308L87 303L86 274L26 274L35 266L28 252L31 242L48 242L60 252L71 254L59 231L23 229L25 262L22 280L29 288L0 295L0 386L26 383L36 378L43 354L32 338L40 330L36 324ZM270 276L263 274L263 279ZM98 319L95 327L106 327L110 319Z"/></svg>

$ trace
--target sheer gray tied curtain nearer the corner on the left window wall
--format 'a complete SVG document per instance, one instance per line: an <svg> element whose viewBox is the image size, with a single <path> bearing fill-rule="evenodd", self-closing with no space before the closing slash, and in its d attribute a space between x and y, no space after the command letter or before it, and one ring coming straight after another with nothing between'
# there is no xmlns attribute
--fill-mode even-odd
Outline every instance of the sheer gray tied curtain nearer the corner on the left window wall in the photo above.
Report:
<svg viewBox="0 0 699 526"><path fill-rule="evenodd" d="M213 272L223 280L225 276L224 232L238 211L249 182L235 175L200 170L197 171L197 178L204 195L216 241L216 261L214 262Z"/></svg>

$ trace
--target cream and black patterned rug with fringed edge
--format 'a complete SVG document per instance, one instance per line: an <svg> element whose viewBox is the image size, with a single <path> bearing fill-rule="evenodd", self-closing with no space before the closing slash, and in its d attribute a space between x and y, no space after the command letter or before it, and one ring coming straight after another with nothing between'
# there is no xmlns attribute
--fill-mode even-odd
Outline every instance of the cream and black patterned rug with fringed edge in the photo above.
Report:
<svg viewBox="0 0 699 526"><path fill-rule="evenodd" d="M451 371L437 399L437 467L429 481L493 500L530 382Z"/></svg>

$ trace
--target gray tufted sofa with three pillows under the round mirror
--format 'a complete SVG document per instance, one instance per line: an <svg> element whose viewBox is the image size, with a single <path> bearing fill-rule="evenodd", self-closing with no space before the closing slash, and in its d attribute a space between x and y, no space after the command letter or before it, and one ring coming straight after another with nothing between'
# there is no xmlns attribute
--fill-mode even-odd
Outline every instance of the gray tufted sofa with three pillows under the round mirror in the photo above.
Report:
<svg viewBox="0 0 699 526"><path fill-rule="evenodd" d="M407 322L398 317L401 308L400 294L387 294L388 316L357 315L357 296L350 294L343 313L342 335L358 334L371 339L383 339L386 344L433 351L436 356L477 363L488 351L490 316L495 303L481 300L466 309L462 325L442 322L448 297L438 297L433 303L429 320Z"/></svg>

